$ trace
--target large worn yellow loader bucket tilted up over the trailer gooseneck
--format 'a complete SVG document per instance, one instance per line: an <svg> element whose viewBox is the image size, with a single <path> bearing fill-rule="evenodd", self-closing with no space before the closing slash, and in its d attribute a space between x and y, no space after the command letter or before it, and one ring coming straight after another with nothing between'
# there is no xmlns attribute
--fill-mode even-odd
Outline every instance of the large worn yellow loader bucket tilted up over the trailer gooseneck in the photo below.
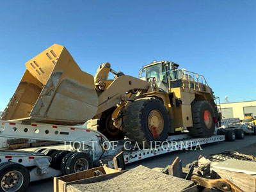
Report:
<svg viewBox="0 0 256 192"><path fill-rule="evenodd" d="M98 109L93 76L67 49L54 44L26 63L26 71L1 120L76 125Z"/></svg>

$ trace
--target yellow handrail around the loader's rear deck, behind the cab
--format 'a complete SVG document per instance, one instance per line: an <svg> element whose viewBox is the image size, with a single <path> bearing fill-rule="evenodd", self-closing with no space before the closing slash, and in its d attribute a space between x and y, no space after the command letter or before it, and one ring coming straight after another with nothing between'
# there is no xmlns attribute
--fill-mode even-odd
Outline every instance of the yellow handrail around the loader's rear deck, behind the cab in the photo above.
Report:
<svg viewBox="0 0 256 192"><path fill-rule="evenodd" d="M191 81L194 84L194 86L193 86L194 90L195 90L196 85L197 85L198 89L200 91L199 83L205 84L206 86L209 87L209 85L208 85L204 76L202 76L198 73L195 73L195 72L191 72L191 71L188 71L188 70L185 70L185 69L182 69L182 68L178 68L178 69L172 70L170 76L168 77L169 88L170 88L170 82L171 81L179 80L179 79L172 79L172 80L170 79L172 77L173 72L178 72L178 71L182 72L182 77L179 78L179 79L182 79L182 88L184 88L184 86L185 86L184 81L188 81L189 90L191 89ZM196 76L196 81L195 81L195 76ZM201 82L200 82L199 79L201 80Z"/></svg>

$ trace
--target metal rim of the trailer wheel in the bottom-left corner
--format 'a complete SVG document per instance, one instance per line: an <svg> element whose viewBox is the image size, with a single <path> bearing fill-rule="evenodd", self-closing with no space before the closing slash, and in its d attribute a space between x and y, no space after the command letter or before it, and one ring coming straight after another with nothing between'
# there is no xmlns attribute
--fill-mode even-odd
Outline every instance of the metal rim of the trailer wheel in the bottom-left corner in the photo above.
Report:
<svg viewBox="0 0 256 192"><path fill-rule="evenodd" d="M1 187L6 192L15 192L21 188L23 181L22 173L18 171L8 172L2 177Z"/></svg>

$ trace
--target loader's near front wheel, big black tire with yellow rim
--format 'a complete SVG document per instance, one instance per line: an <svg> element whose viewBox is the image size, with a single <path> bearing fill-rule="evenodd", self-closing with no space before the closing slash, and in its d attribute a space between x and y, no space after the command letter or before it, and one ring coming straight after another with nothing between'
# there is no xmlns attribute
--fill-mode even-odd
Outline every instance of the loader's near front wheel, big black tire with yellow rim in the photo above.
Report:
<svg viewBox="0 0 256 192"><path fill-rule="evenodd" d="M150 141L165 141L168 138L169 126L168 111L159 99L137 99L129 103L125 109L126 136L137 142L140 147L150 147Z"/></svg>

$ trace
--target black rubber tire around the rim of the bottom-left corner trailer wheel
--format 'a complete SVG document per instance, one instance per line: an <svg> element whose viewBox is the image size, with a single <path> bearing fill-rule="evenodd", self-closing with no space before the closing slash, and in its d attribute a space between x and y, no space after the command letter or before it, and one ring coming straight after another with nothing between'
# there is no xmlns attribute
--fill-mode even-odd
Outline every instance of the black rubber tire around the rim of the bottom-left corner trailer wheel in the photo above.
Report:
<svg viewBox="0 0 256 192"><path fill-rule="evenodd" d="M23 183L22 186L17 190L17 192L24 192L29 186L30 182L30 175L28 169L23 166L22 164L18 163L13 163L13 162L8 162L8 163L3 163L0 165L0 179L2 180L4 175L8 172L11 171L18 171L22 174L23 176ZM0 192L4 192L2 186L0 186Z"/></svg>

